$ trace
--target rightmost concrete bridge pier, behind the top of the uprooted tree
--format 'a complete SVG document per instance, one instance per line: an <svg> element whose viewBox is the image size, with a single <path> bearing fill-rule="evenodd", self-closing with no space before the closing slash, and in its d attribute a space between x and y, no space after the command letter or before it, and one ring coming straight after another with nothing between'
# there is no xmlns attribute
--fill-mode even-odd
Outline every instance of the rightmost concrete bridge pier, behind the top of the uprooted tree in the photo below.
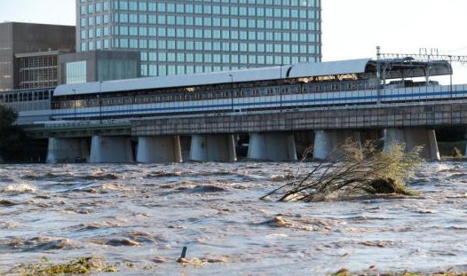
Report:
<svg viewBox="0 0 467 276"><path fill-rule="evenodd" d="M423 127L388 128L384 130L384 149L393 143L403 143L410 151L415 146L423 146L420 156L427 161L440 161L435 130Z"/></svg>

